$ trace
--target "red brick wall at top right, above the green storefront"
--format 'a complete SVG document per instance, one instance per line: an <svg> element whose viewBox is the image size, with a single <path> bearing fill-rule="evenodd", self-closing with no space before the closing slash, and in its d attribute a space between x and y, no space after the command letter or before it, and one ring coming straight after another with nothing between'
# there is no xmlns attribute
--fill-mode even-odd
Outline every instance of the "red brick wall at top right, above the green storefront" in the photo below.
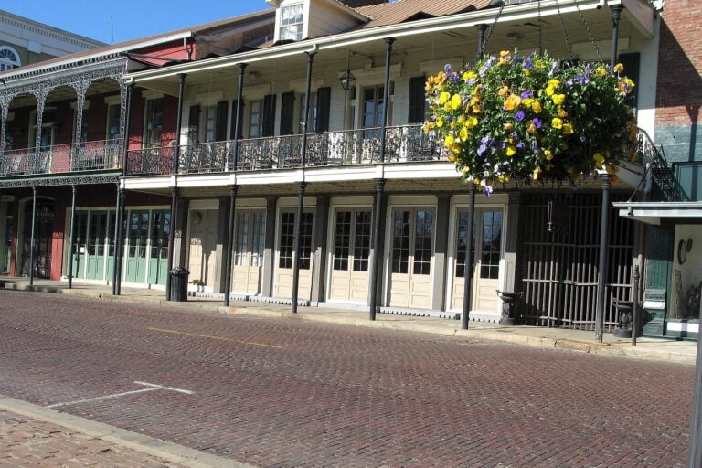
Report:
<svg viewBox="0 0 702 468"><path fill-rule="evenodd" d="M702 106L702 2L666 0L662 12L656 126L700 122Z"/></svg>

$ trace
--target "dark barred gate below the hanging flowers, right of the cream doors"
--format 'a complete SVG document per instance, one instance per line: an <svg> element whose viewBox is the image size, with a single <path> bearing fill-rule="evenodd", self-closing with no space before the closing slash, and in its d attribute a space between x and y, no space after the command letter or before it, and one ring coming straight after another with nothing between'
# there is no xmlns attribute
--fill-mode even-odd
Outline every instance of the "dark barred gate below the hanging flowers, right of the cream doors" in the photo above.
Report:
<svg viewBox="0 0 702 468"><path fill-rule="evenodd" d="M625 195L613 193L612 201ZM524 194L519 274L527 324L593 329L597 306L601 194ZM632 293L633 222L610 206L604 324L617 323L613 299Z"/></svg>

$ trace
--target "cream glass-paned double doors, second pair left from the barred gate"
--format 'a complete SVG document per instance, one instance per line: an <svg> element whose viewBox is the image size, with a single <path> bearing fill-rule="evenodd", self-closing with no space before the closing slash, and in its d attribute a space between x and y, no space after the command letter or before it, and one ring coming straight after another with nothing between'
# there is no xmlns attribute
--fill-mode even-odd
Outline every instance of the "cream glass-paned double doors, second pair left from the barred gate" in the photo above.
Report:
<svg viewBox="0 0 702 468"><path fill-rule="evenodd" d="M431 308L433 208L392 211L390 305Z"/></svg>

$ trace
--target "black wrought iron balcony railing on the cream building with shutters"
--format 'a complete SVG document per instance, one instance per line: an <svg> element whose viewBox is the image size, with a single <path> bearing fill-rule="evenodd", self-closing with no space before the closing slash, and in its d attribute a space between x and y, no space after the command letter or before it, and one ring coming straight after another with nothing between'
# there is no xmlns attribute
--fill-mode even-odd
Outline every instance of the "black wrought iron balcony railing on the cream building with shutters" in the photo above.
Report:
<svg viewBox="0 0 702 468"><path fill-rule="evenodd" d="M250 138L239 142L182 145L178 174L220 173L235 169L255 171L291 169L301 166L302 135ZM165 176L174 171L175 146L131 150L127 154L127 176ZM309 133L305 167L370 165L381 162L380 129ZM388 127L385 163L437 161L445 159L441 143L425 135L421 125Z"/></svg>

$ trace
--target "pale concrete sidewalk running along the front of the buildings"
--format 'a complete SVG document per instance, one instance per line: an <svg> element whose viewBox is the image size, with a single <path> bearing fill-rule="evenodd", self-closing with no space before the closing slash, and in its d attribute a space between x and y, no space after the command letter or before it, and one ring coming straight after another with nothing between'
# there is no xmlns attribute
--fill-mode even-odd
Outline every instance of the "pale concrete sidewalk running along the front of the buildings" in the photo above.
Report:
<svg viewBox="0 0 702 468"><path fill-rule="evenodd" d="M437 317L378 314L377 320L372 322L368 320L368 313L365 311L331 307L299 307L298 313L292 314L289 305L274 303L231 301L229 307L224 307L219 299L199 297L188 297L184 303L167 302L165 301L165 293L159 290L122 288L122 294L115 296L112 295L112 287L106 285L73 282L73 288L69 289L68 282L65 281L35 280L32 286L29 286L27 278L5 278L4 282L5 289L17 291L67 293L109 301L148 303L224 314L309 320L328 324L457 336L472 340L536 346L543 349L568 349L603 356L626 356L687 365L694 365L697 355L697 342L695 341L641 337L637 340L637 346L632 346L631 339L616 338L612 334L605 334L603 343L598 343L591 331L526 325L501 326L474 321L471 321L468 330L463 330L460 321Z"/></svg>

